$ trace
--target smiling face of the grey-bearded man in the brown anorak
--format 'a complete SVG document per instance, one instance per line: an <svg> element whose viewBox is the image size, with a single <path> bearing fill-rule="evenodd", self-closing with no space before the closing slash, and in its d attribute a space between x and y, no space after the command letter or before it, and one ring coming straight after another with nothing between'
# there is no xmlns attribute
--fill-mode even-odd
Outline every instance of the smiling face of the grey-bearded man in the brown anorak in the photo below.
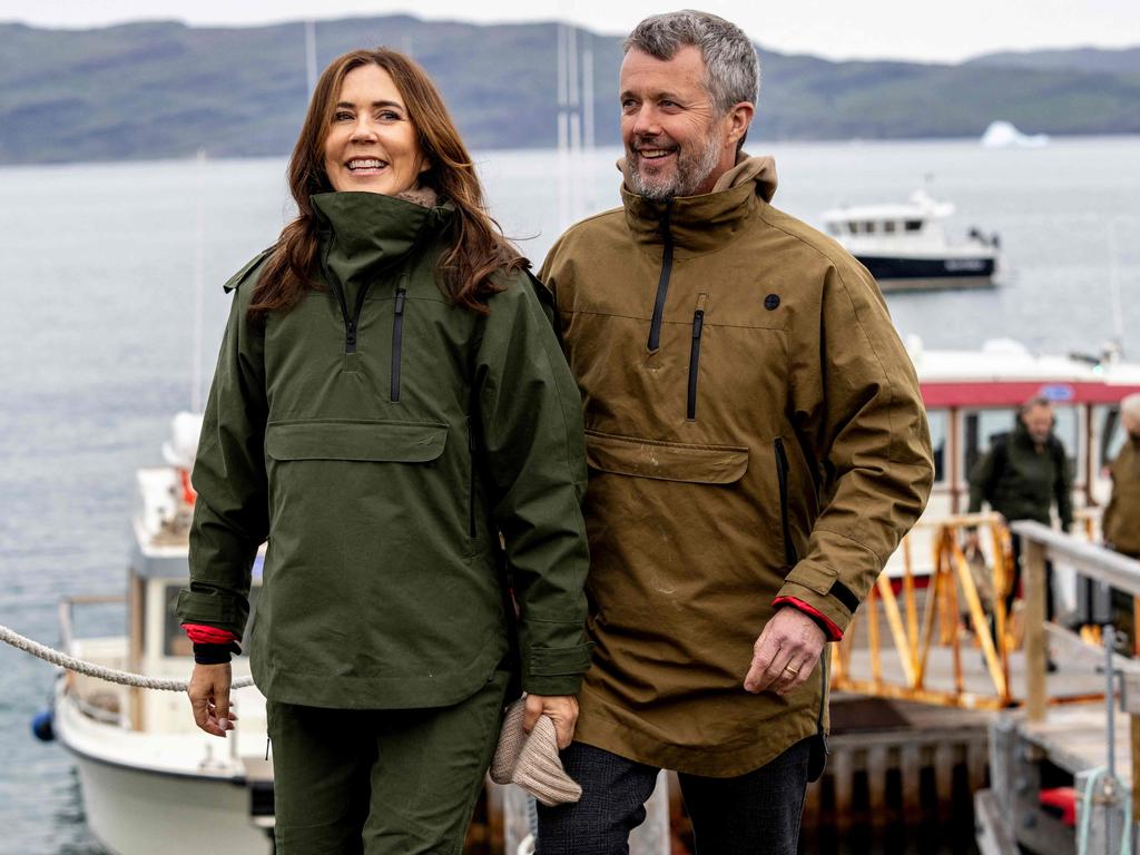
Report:
<svg viewBox="0 0 1140 855"><path fill-rule="evenodd" d="M663 201L709 193L736 160L732 120L705 89L705 59L686 44L673 59L630 48L621 63L621 140L634 193Z"/></svg>

